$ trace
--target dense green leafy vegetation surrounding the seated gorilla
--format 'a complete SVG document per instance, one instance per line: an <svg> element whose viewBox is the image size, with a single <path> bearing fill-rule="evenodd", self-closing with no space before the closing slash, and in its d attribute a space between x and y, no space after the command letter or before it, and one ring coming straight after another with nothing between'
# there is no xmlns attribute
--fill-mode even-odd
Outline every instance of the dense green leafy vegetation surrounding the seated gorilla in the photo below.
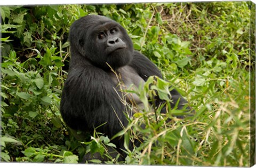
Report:
<svg viewBox="0 0 256 168"><path fill-rule="evenodd" d="M166 116L149 108L135 114L117 135L124 135L125 146L138 135L144 141L127 150L124 164L250 166L255 162L251 8L250 2L1 6L1 161L77 163L86 151L108 155L106 146L114 146L109 137L95 132L89 141L77 141L59 111L69 27L84 15L101 14L121 23L134 49L169 81L150 78L137 92L143 103L155 90L166 98L172 85L196 111L185 119L172 117L179 111L171 109ZM110 156L106 163L121 164Z"/></svg>

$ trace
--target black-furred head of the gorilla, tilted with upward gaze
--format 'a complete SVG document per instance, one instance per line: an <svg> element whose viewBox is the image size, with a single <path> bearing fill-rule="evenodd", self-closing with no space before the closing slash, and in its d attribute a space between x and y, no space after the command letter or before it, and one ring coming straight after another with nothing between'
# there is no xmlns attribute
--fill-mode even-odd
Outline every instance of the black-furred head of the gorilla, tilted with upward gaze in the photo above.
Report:
<svg viewBox="0 0 256 168"><path fill-rule="evenodd" d="M100 15L76 20L70 28L69 41L71 52L77 52L102 69L109 69L109 66L117 69L133 58L133 44L126 30L116 21Z"/></svg>

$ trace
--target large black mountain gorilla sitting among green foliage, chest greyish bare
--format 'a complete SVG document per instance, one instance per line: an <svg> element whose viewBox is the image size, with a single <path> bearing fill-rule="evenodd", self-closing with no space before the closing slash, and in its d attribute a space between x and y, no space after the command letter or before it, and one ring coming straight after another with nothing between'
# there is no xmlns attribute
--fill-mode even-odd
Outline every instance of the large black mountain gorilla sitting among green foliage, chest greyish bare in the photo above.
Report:
<svg viewBox="0 0 256 168"><path fill-rule="evenodd" d="M162 75L145 55L134 51L126 30L107 17L87 15L78 19L70 28L69 41L71 60L60 103L62 118L71 130L82 132L76 138L92 133L99 125L97 132L111 138L128 123L122 99L132 99L127 101L131 105L142 105L138 95L121 90L137 88L148 77ZM187 101L176 90L170 93L171 105L178 102L178 109L182 109ZM163 102L156 99L157 105ZM124 159L123 139L111 142L121 154L119 161ZM114 152L113 157L116 155ZM104 160L99 154L86 154L84 159L92 158Z"/></svg>

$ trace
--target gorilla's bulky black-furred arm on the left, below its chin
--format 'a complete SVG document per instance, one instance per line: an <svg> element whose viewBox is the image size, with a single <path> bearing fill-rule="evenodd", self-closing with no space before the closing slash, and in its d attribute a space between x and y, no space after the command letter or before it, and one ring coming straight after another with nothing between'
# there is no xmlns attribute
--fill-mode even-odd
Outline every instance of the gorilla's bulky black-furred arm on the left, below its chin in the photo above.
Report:
<svg viewBox="0 0 256 168"><path fill-rule="evenodd" d="M105 133L109 138L121 131L122 124L127 125L125 107L113 87L113 81L100 68L89 65L71 68L60 106L67 125L74 130L89 132L106 123L97 132Z"/></svg>

